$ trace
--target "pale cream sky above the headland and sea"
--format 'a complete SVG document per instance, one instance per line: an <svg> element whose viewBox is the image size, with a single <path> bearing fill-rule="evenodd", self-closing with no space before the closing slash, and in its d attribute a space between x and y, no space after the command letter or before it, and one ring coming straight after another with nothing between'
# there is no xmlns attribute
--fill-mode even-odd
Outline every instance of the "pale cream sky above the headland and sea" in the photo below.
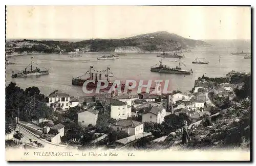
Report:
<svg viewBox="0 0 256 166"><path fill-rule="evenodd" d="M191 39L250 39L250 7L7 6L8 39L124 38L167 31Z"/></svg>

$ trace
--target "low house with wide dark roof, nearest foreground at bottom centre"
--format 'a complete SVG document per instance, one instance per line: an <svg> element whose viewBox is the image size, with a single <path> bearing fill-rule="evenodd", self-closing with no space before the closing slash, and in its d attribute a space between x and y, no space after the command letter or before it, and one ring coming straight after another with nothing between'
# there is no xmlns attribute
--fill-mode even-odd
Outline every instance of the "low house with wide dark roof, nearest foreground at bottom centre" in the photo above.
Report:
<svg viewBox="0 0 256 166"><path fill-rule="evenodd" d="M143 123L133 121L133 120L120 120L116 124L112 124L110 127L114 131L123 131L131 135L137 135L143 133L144 127Z"/></svg>

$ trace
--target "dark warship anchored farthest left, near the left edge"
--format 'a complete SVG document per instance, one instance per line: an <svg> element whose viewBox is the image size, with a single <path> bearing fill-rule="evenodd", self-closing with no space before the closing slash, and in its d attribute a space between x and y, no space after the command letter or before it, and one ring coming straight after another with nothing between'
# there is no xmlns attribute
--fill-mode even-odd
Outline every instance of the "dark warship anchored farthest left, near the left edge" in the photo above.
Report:
<svg viewBox="0 0 256 166"><path fill-rule="evenodd" d="M34 62L31 62L25 70L19 71L19 72L13 72L12 71L12 78L18 78L18 77L30 77L30 76L41 76L41 75L48 75L49 69L45 68L44 70L41 70L38 67L34 67L32 64L36 64ZM38 64L36 64L38 65ZM27 68L30 67L29 70Z"/></svg>

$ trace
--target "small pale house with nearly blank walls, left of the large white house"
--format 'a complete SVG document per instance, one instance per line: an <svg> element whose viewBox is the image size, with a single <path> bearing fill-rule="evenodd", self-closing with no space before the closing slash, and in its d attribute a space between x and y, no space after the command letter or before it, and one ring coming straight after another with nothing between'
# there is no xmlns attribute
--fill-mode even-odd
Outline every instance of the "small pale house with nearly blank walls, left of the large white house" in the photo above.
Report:
<svg viewBox="0 0 256 166"><path fill-rule="evenodd" d="M88 125L95 126L98 120L99 111L88 109L83 112L78 113L78 124L82 127L87 127Z"/></svg>

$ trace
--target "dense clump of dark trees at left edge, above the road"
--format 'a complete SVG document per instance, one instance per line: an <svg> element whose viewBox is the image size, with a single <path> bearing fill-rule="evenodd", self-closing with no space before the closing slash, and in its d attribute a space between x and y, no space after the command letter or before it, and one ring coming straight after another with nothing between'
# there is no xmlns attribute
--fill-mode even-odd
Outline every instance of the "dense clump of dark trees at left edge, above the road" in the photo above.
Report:
<svg viewBox="0 0 256 166"><path fill-rule="evenodd" d="M46 105L44 94L37 87L21 89L11 82L5 89L6 93L6 122L12 123L12 117L19 117L20 121L30 122L39 118L49 117L52 109Z"/></svg>

